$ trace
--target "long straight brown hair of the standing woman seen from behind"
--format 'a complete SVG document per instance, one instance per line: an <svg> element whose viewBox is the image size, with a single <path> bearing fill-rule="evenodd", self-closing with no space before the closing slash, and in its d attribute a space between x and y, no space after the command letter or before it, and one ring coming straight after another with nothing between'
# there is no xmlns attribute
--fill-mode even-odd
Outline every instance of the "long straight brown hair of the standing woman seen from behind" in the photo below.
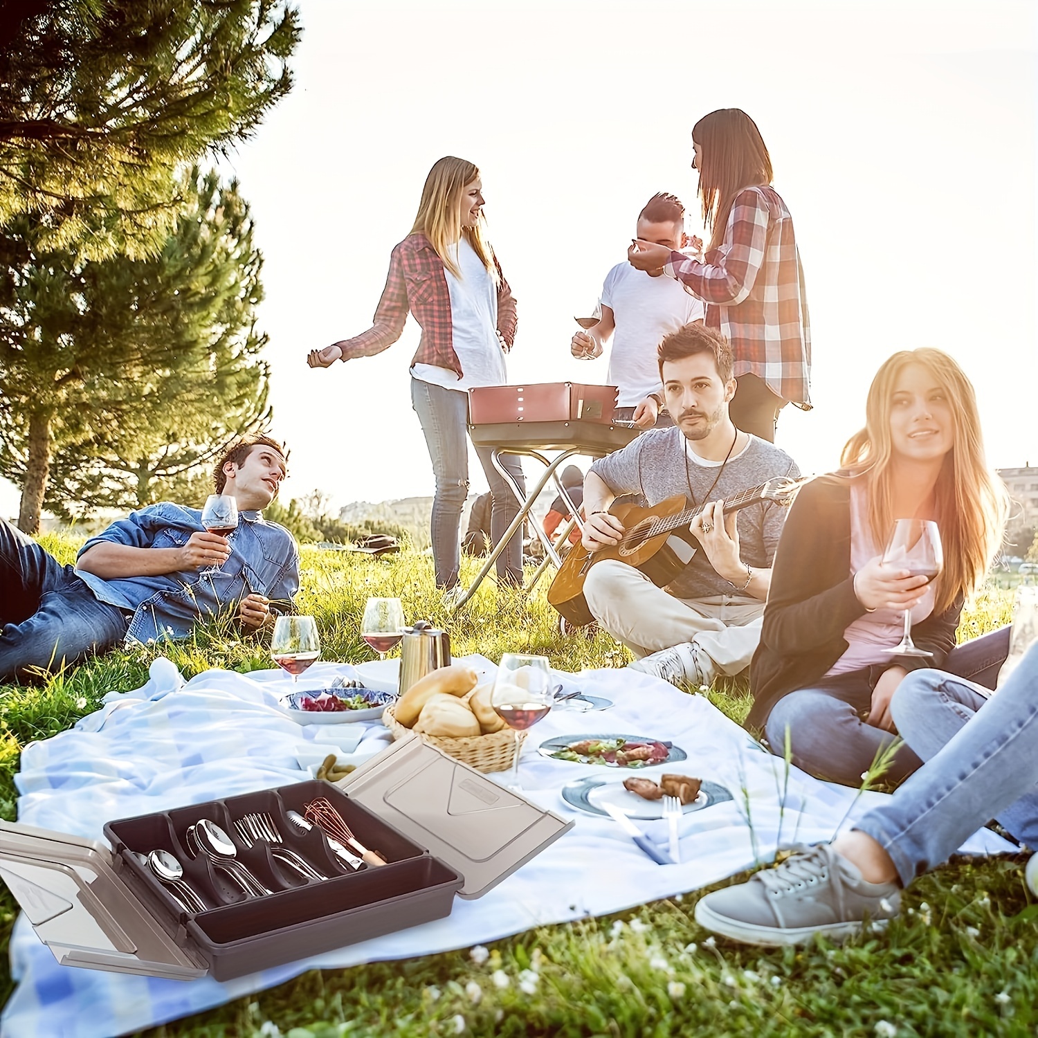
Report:
<svg viewBox="0 0 1038 1038"><path fill-rule="evenodd" d="M771 156L757 124L741 108L718 108L692 127L692 140L703 148L700 198L703 222L715 249L725 240L728 215L743 189L771 183Z"/></svg>

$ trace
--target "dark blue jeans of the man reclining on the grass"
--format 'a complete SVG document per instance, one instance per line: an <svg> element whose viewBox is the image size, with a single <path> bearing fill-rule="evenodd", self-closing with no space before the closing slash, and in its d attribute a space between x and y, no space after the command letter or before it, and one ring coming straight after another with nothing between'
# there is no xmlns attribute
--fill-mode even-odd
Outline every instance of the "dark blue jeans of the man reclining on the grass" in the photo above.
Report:
<svg viewBox="0 0 1038 1038"><path fill-rule="evenodd" d="M99 601L32 538L0 519L0 680L121 644L127 616Z"/></svg>

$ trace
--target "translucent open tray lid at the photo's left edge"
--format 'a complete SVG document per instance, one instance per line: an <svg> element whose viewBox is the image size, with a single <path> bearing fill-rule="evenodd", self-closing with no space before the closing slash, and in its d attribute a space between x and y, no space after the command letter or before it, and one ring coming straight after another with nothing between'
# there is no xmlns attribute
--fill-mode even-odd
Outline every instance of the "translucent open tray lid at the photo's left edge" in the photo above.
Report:
<svg viewBox="0 0 1038 1038"><path fill-rule="evenodd" d="M0 821L0 876L63 965L171 980L208 972L122 882L102 843Z"/></svg>

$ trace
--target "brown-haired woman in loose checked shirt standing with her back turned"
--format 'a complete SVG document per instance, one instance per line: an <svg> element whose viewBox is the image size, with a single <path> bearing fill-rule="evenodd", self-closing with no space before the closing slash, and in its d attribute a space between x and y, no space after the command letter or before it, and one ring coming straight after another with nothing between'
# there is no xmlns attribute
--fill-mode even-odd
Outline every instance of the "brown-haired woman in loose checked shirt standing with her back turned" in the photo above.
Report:
<svg viewBox="0 0 1038 1038"><path fill-rule="evenodd" d="M771 187L771 157L745 112L705 115L692 127L692 147L711 231L706 255L635 241L627 256L638 270L662 267L707 304L707 326L725 335L735 355L732 421L773 440L786 404L811 410L811 326L793 218Z"/></svg>

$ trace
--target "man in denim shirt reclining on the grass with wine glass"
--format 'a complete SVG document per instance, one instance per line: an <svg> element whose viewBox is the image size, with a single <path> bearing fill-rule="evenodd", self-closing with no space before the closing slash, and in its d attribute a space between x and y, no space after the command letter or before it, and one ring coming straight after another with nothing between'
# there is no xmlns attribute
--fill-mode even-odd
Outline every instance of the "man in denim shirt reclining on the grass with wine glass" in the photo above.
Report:
<svg viewBox="0 0 1038 1038"><path fill-rule="evenodd" d="M261 515L284 473L277 440L245 437L213 473L238 503L228 537L207 531L198 509L163 501L91 538L75 567L0 520L0 680L124 641L185 637L229 609L246 630L265 626L272 603L288 606L299 590L296 542Z"/></svg>

